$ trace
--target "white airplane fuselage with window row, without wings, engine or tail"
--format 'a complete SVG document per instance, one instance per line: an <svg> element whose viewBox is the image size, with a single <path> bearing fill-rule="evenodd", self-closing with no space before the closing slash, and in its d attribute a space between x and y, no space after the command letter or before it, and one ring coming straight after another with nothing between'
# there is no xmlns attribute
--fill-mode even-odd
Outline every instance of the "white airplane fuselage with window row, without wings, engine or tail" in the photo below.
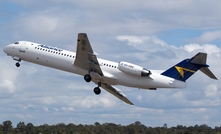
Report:
<svg viewBox="0 0 221 134"><path fill-rule="evenodd" d="M12 56L14 60L24 60L83 76L88 74L88 70L74 65L75 52L27 41L10 44L4 48L4 51ZM185 82L161 75L160 71L157 70L150 70L150 76L134 76L120 71L117 62L99 58L98 62L104 76L98 76L92 72L91 77L94 82L99 81L110 85L123 85L142 89L184 88L186 86Z"/></svg>

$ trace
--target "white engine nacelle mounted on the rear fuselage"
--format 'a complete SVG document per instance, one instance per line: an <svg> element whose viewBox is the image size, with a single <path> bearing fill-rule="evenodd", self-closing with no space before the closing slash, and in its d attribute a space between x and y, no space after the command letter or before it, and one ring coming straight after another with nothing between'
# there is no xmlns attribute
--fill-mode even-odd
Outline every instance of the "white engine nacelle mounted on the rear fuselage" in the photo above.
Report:
<svg viewBox="0 0 221 134"><path fill-rule="evenodd" d="M149 76L151 74L150 70L124 61L121 61L118 64L118 69L124 73L134 76Z"/></svg>

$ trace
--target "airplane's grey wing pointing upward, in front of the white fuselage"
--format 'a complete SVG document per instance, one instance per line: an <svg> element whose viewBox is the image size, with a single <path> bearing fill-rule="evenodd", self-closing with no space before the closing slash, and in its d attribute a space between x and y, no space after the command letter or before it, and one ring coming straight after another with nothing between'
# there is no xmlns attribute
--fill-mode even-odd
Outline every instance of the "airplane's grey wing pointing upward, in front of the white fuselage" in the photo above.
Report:
<svg viewBox="0 0 221 134"><path fill-rule="evenodd" d="M74 65L82 69L93 71L103 76L102 70L97 60L86 33L79 33L77 40L77 51Z"/></svg>

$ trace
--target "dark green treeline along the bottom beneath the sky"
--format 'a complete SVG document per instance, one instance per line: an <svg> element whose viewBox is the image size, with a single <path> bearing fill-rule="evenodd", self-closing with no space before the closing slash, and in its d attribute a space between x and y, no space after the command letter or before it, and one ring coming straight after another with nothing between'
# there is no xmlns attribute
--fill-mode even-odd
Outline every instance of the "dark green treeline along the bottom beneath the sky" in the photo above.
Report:
<svg viewBox="0 0 221 134"><path fill-rule="evenodd" d="M162 127L147 127L136 121L127 126L99 122L93 125L58 123L34 126L32 123L19 122L13 127L11 121L4 121L0 124L0 134L221 134L221 126L211 128L203 124L190 127L177 125L168 128L167 124L164 124Z"/></svg>

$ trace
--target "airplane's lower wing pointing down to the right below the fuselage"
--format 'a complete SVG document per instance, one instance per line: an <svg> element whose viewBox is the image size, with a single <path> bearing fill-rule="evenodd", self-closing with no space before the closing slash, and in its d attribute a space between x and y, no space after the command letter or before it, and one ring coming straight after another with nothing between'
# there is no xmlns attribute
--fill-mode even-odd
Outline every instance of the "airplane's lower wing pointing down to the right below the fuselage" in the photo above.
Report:
<svg viewBox="0 0 221 134"><path fill-rule="evenodd" d="M101 87L108 91L109 93L113 94L117 98L121 99L122 101L126 102L127 104L134 105L131 101L129 101L125 94L121 93L121 91L109 84L101 83Z"/></svg>

